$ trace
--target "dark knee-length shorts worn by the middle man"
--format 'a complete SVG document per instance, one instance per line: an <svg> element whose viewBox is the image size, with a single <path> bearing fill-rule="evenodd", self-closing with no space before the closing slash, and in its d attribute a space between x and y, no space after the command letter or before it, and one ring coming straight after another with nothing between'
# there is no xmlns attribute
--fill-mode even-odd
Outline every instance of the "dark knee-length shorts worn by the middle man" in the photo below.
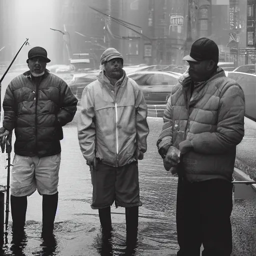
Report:
<svg viewBox="0 0 256 256"><path fill-rule="evenodd" d="M92 170L92 209L111 206L141 206L137 161L120 167L97 162Z"/></svg>

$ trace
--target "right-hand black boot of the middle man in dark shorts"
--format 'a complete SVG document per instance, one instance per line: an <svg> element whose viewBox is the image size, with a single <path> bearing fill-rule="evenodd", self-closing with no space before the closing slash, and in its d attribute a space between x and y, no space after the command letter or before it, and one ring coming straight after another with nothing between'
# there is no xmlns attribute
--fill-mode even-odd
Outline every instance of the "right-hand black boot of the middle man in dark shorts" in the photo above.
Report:
<svg viewBox="0 0 256 256"><path fill-rule="evenodd" d="M126 218L126 246L134 248L138 234L138 206L125 208Z"/></svg>

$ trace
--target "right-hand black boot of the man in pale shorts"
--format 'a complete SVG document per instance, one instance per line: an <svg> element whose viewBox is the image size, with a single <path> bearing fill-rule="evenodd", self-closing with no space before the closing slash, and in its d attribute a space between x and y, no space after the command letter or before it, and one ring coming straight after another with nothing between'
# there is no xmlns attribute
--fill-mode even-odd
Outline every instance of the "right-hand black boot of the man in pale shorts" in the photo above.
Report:
<svg viewBox="0 0 256 256"><path fill-rule="evenodd" d="M54 219L58 204L58 192L42 195L42 234L44 245L54 245L53 235Z"/></svg>

